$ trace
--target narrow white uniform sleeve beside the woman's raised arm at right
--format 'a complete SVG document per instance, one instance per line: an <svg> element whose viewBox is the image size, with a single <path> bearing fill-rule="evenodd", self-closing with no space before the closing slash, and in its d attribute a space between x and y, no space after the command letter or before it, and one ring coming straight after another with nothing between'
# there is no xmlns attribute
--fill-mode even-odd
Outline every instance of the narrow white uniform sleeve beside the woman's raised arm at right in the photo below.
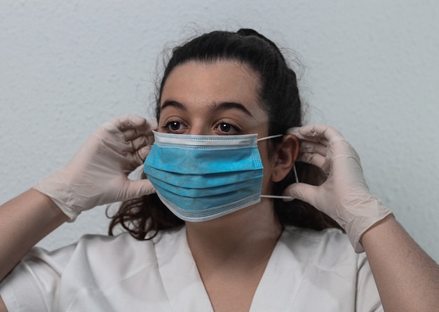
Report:
<svg viewBox="0 0 439 312"><path fill-rule="evenodd" d="M358 257L356 311L383 312L381 299L365 253Z"/></svg>

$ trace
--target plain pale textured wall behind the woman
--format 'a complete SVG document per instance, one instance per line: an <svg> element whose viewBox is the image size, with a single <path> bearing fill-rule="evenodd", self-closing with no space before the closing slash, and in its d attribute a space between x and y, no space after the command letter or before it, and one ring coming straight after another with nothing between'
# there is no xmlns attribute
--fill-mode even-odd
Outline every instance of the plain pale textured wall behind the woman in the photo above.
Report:
<svg viewBox="0 0 439 312"><path fill-rule="evenodd" d="M252 27L297 51L309 121L344 133L372 192L439 260L438 1L0 2L0 201L60 168L101 123L152 116L163 46ZM104 208L40 245L106 233Z"/></svg>

